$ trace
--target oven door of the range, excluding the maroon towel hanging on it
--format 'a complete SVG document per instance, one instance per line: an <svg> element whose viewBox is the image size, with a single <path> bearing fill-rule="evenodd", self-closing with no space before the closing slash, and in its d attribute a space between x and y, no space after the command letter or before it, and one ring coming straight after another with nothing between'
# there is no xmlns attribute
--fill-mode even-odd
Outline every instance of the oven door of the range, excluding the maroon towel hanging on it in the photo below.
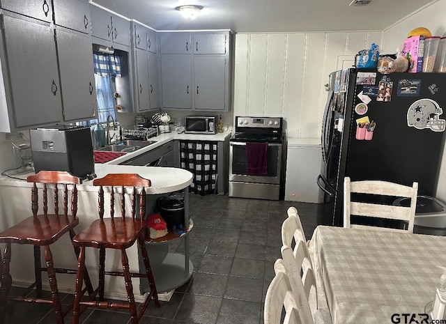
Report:
<svg viewBox="0 0 446 324"><path fill-rule="evenodd" d="M282 144L268 144L268 173L264 176L249 176L246 143L229 143L229 181L244 183L280 183L280 166L282 163Z"/></svg>

